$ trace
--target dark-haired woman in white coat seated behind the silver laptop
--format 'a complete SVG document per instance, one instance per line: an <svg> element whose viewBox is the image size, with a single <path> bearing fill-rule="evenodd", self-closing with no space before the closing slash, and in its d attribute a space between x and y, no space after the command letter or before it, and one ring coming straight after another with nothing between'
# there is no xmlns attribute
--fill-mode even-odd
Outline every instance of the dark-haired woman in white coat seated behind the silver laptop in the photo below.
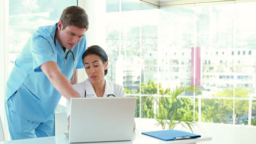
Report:
<svg viewBox="0 0 256 144"><path fill-rule="evenodd" d="M108 71L108 56L97 45L92 45L82 56L88 79L73 85L80 97L126 97L124 88L117 83L105 80ZM70 101L67 100L68 123L70 118ZM133 127L135 130L135 125ZM68 124L69 131L69 124Z"/></svg>

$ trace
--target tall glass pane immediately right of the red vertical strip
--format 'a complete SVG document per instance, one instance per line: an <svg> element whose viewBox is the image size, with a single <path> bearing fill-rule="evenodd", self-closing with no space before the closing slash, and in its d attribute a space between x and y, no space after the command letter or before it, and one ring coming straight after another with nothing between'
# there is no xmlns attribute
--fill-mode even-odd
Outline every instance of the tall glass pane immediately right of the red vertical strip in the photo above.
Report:
<svg viewBox="0 0 256 144"><path fill-rule="evenodd" d="M230 4L205 6L197 10L197 44L202 59L201 82L203 87L210 88L208 90L213 93L233 88L233 13L234 6Z"/></svg>

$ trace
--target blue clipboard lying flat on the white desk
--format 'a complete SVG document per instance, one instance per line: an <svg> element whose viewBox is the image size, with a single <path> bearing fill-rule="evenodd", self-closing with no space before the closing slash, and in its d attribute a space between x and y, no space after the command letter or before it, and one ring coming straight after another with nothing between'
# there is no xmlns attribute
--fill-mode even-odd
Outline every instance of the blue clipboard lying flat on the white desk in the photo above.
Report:
<svg viewBox="0 0 256 144"><path fill-rule="evenodd" d="M143 132L142 134L152 136L161 140L181 140L181 139L193 139L196 137L201 137L201 135L196 135L180 130L159 130L159 131L149 131Z"/></svg>

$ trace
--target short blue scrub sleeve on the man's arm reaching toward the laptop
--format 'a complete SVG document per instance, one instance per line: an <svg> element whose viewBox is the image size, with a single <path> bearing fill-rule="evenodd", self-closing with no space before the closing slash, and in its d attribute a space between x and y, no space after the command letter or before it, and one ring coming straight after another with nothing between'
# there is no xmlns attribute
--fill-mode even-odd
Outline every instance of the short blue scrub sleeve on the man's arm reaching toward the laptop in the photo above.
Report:
<svg viewBox="0 0 256 144"><path fill-rule="evenodd" d="M42 71L40 65L45 62L56 62L53 47L50 45L49 41L43 37L37 36L32 39L31 53L33 57L33 69L35 72Z"/></svg>

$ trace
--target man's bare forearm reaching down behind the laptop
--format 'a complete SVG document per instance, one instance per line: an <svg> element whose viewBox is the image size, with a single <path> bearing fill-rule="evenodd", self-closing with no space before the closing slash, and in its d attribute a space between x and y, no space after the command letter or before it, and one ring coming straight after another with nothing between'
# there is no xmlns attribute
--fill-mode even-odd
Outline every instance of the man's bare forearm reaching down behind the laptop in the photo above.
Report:
<svg viewBox="0 0 256 144"><path fill-rule="evenodd" d="M43 63L40 69L43 70L57 91L67 100L70 100L72 97L79 97L79 93L75 91L69 80L61 73L56 62L50 61Z"/></svg>

